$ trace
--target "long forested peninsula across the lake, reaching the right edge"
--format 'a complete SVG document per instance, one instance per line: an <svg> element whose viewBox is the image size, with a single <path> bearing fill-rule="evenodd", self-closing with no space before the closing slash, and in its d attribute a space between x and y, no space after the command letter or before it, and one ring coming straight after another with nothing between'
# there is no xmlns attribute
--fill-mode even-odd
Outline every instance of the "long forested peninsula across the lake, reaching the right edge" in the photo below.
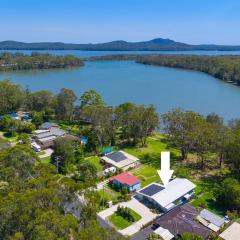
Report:
<svg viewBox="0 0 240 240"><path fill-rule="evenodd" d="M141 64L195 70L240 85L240 56L111 55L91 60L135 60Z"/></svg>

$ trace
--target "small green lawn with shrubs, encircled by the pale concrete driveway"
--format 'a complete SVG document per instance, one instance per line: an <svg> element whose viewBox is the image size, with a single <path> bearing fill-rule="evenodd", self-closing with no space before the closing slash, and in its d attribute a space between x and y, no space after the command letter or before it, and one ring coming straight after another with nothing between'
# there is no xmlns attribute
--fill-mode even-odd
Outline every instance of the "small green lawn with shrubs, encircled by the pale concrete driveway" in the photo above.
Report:
<svg viewBox="0 0 240 240"><path fill-rule="evenodd" d="M129 208L130 209L130 208ZM131 215L134 217L135 221L137 222L141 219L141 216L137 214L135 211L130 209ZM132 225L134 222L128 222L126 219L124 219L121 216L118 216L116 213L112 214L109 218L108 221L117 229L124 229L130 225Z"/></svg>

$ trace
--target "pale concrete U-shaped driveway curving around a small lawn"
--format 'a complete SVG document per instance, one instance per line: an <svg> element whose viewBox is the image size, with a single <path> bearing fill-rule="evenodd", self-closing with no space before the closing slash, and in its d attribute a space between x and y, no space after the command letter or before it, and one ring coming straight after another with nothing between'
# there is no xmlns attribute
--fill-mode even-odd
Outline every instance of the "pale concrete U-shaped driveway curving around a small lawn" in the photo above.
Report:
<svg viewBox="0 0 240 240"><path fill-rule="evenodd" d="M103 210L102 212L98 213L98 216L101 219L107 221L107 218L109 216L111 216L117 210L118 206L124 206L124 207L131 208L132 210L134 210L136 213L138 213L142 217L139 221L133 223L131 226L129 226L123 230L118 230L118 232L124 236L131 236L131 235L137 233L142 228L143 225L151 222L157 216L156 214L152 213L145 205L140 203L135 198L131 199L128 202L119 203L119 204L112 206L111 208Z"/></svg>

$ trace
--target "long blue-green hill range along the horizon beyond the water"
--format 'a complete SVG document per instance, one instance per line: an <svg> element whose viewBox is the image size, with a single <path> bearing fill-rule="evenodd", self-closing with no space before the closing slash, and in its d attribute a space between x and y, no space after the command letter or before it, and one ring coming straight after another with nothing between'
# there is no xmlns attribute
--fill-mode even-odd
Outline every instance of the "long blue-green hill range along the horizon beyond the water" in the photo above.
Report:
<svg viewBox="0 0 240 240"><path fill-rule="evenodd" d="M96 51L188 51L188 50L240 50L240 46L214 44L191 45L171 39L156 38L143 42L113 41L97 44L75 44L62 42L24 43L16 41L0 42L1 50L96 50Z"/></svg>

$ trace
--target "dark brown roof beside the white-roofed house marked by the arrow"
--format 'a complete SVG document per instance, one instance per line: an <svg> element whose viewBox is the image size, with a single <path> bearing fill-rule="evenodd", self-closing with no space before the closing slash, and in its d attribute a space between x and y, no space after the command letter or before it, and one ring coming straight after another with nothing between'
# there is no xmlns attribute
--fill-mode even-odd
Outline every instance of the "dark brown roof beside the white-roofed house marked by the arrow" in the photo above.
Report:
<svg viewBox="0 0 240 240"><path fill-rule="evenodd" d="M157 222L163 228L168 229L175 236L183 233L195 233L204 239L210 234L210 230L194 221L198 211L189 204L178 206L160 217Z"/></svg>

